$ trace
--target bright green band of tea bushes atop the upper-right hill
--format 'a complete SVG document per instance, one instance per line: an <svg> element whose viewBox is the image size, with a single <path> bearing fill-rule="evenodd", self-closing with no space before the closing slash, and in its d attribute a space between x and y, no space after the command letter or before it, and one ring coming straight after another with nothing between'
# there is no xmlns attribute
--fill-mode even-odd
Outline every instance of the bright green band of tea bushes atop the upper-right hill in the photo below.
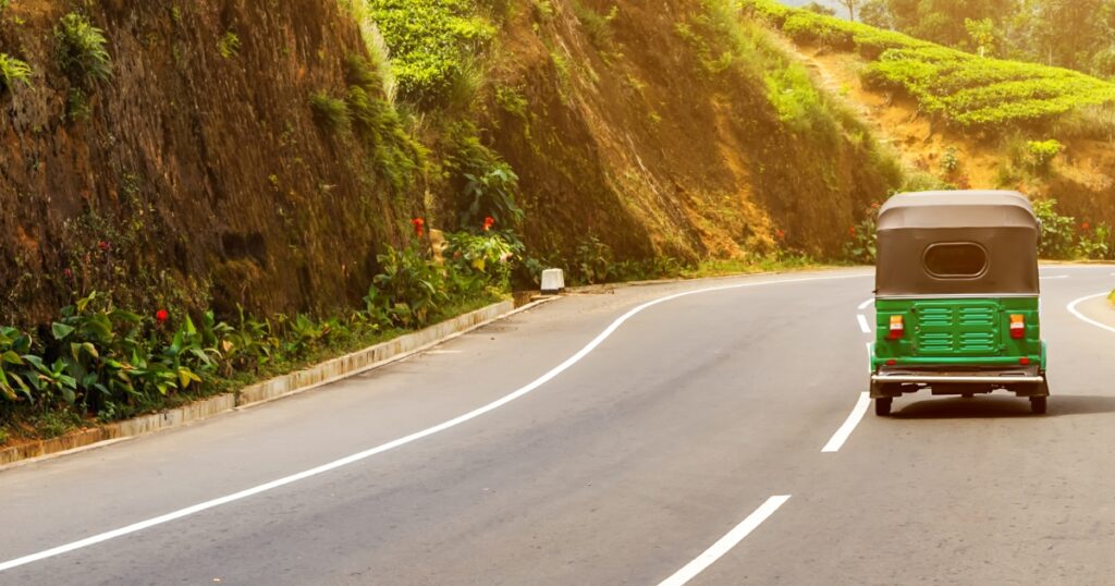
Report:
<svg viewBox="0 0 1115 586"><path fill-rule="evenodd" d="M867 87L905 93L923 112L966 131L1048 125L1074 112L1115 104L1115 84L1078 71L982 58L773 0L741 3L795 42L859 52L871 61L863 73Z"/></svg>

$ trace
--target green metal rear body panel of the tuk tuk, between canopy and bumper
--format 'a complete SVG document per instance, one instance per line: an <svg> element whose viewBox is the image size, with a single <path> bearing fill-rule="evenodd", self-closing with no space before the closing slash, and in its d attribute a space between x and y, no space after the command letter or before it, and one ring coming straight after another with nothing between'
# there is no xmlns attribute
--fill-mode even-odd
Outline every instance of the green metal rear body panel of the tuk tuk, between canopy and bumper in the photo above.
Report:
<svg viewBox="0 0 1115 586"><path fill-rule="evenodd" d="M1026 335L1010 337L1010 316L1026 320ZM905 323L902 339L888 339L891 316ZM872 369L899 365L1002 366L1029 358L1041 364L1037 297L876 299Z"/></svg>

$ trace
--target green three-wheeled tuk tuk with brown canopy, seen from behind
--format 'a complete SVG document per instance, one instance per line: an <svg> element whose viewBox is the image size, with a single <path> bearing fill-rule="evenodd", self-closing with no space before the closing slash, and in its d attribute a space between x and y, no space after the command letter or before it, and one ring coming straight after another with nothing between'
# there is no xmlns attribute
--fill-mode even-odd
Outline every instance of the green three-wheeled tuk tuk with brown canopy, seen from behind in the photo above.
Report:
<svg viewBox="0 0 1115 586"><path fill-rule="evenodd" d="M875 414L923 390L972 397L997 390L1046 412L1039 323L1040 223L1005 191L904 193L879 211Z"/></svg>

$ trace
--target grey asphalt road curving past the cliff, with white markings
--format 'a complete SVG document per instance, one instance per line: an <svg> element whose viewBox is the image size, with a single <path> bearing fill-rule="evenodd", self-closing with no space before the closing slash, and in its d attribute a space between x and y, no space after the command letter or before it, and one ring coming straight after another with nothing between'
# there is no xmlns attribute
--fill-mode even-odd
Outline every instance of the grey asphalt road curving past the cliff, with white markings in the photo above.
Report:
<svg viewBox="0 0 1115 586"><path fill-rule="evenodd" d="M0 472L0 584L1108 584L1113 272L1043 268L1047 416L856 417L867 270L568 297Z"/></svg>

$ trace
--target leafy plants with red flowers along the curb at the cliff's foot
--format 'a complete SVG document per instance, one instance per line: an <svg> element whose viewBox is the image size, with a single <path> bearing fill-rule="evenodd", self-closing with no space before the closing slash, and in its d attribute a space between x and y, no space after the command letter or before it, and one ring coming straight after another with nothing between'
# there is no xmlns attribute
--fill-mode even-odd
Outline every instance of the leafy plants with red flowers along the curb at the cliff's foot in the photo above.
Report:
<svg viewBox="0 0 1115 586"><path fill-rule="evenodd" d="M173 308L140 316L93 292L64 308L45 337L0 328L0 423L22 422L50 436L85 415L133 416L363 347L506 294L521 249L494 232L449 234L448 241L444 262L420 240L388 247L366 307L342 318L259 320L241 310L229 323L212 311Z"/></svg>

